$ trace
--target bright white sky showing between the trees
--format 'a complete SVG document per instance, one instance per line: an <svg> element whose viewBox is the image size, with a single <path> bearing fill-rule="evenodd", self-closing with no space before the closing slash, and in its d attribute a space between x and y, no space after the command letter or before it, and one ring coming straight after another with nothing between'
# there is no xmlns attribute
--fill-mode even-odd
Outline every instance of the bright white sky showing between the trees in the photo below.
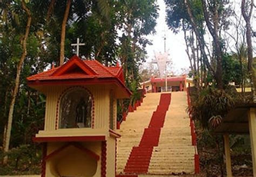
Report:
<svg viewBox="0 0 256 177"><path fill-rule="evenodd" d="M181 69L188 69L190 66L187 54L185 52L186 44L184 42L183 32L180 31L178 34L174 34L171 30L168 29L168 26L165 22L166 12L165 12L165 3L164 0L157 0L159 5L159 17L157 19L156 34L147 36L147 38L152 40L153 45L148 45L147 50L147 63L150 63L154 59L154 51L164 52L164 34L166 33L166 50L169 50L170 58L172 59L173 72L174 74L181 74ZM233 0L235 6L235 11L240 14L240 3L241 0ZM255 20L255 10L254 8L254 20ZM252 19L253 30L255 30L256 23ZM253 45L255 46L256 39L253 38Z"/></svg>

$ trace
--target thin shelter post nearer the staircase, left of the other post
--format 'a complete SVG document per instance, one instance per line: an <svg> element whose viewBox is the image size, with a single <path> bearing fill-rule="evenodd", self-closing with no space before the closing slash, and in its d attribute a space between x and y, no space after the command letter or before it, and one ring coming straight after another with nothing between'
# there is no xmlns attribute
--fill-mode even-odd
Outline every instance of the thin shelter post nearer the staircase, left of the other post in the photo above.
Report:
<svg viewBox="0 0 256 177"><path fill-rule="evenodd" d="M232 177L232 166L231 166L231 156L230 156L230 138L228 137L228 134L224 134L223 136L224 136L224 145L225 145L227 177Z"/></svg>

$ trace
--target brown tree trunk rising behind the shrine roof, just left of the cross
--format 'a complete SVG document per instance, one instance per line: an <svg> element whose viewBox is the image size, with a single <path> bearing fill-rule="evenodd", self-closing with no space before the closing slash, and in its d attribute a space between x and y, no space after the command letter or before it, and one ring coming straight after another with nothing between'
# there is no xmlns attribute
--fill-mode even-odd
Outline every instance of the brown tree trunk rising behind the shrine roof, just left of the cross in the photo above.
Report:
<svg viewBox="0 0 256 177"><path fill-rule="evenodd" d="M68 21L70 5L71 5L71 0L68 0L68 2L66 3L66 10L65 10L65 13L64 13L63 21L62 21L62 35L60 37L59 65L62 65L64 63L66 22Z"/></svg>

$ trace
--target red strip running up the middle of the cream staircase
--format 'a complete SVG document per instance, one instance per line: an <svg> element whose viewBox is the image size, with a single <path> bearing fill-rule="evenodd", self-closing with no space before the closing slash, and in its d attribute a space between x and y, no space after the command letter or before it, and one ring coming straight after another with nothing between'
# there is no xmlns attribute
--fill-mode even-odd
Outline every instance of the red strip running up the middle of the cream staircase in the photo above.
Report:
<svg viewBox="0 0 256 177"><path fill-rule="evenodd" d="M153 112L149 127L145 128L139 146L132 148L124 169L125 174L147 173L153 147L158 146L161 127L164 126L165 114L170 103L171 94L161 94L157 110Z"/></svg>

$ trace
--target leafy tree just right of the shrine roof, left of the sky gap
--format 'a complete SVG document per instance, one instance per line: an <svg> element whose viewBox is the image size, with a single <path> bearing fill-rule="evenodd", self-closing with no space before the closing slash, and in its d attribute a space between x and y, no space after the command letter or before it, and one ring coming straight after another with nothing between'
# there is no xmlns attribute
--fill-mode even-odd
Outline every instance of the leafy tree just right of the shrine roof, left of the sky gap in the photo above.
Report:
<svg viewBox="0 0 256 177"><path fill-rule="evenodd" d="M119 56L126 83L131 83L134 79L138 82L138 65L145 60L145 47L150 44L145 37L154 32L157 8L155 0L124 0L119 3L119 29L123 30Z"/></svg>

